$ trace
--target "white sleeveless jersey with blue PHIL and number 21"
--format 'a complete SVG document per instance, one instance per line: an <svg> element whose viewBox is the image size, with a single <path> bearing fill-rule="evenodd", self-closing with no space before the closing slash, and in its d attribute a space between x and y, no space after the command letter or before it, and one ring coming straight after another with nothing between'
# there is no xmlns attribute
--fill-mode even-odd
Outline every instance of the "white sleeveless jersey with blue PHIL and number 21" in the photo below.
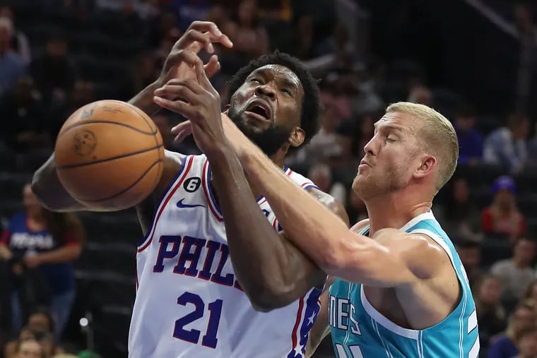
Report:
<svg viewBox="0 0 537 358"><path fill-rule="evenodd" d="M314 186L288 168L285 172L304 189ZM235 279L210 183L206 157L184 157L138 245L129 357L305 357L320 290L281 309L255 311ZM266 199L257 202L281 230Z"/></svg>

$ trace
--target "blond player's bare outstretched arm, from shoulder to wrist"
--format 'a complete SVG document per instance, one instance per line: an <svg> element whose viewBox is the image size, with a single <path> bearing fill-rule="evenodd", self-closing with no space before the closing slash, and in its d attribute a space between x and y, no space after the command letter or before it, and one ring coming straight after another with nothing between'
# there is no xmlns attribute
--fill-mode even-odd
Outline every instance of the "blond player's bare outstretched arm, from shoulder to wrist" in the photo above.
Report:
<svg viewBox="0 0 537 358"><path fill-rule="evenodd" d="M264 193L288 238L325 273L350 282L394 287L435 275L446 256L423 234L382 229L373 238L356 234L312 196L300 190L225 115L249 181Z"/></svg>

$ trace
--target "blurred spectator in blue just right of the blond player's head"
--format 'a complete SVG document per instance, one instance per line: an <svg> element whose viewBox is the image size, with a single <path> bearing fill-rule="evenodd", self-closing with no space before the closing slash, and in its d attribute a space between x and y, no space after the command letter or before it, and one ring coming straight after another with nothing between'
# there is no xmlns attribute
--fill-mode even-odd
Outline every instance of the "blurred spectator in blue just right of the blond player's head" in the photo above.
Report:
<svg viewBox="0 0 537 358"><path fill-rule="evenodd" d="M483 159L483 136L473 127L476 114L471 108L462 109L455 117L455 131L459 139L459 164L473 165Z"/></svg>

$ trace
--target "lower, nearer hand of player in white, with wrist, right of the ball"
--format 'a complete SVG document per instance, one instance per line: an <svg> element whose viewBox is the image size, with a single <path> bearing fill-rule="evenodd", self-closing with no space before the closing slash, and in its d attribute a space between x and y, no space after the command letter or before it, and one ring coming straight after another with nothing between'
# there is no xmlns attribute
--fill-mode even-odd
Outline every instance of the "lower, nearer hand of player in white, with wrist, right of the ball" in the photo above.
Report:
<svg viewBox="0 0 537 358"><path fill-rule="evenodd" d="M172 79L155 90L154 101L189 119L196 144L209 156L229 146L220 121L220 95L211 85L203 61L198 56L186 60L194 67L196 80ZM170 97L177 100L167 100Z"/></svg>

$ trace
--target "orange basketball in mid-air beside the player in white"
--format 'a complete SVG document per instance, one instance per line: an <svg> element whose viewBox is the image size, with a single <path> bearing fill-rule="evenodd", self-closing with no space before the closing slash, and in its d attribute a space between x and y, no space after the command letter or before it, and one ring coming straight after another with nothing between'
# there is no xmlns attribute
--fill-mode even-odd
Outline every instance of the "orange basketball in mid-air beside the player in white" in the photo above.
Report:
<svg viewBox="0 0 537 358"><path fill-rule="evenodd" d="M129 103L100 100L71 114L54 148L59 181L91 208L123 210L147 198L163 172L163 138Z"/></svg>

